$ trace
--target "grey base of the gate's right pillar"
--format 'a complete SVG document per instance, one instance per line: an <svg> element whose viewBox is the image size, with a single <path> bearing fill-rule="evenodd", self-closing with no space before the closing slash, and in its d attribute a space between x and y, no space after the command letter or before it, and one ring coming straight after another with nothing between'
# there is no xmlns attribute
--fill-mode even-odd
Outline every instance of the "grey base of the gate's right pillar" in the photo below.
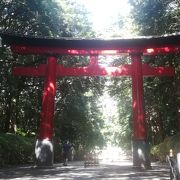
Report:
<svg viewBox="0 0 180 180"><path fill-rule="evenodd" d="M146 140L133 140L133 167L151 169L149 145Z"/></svg>

